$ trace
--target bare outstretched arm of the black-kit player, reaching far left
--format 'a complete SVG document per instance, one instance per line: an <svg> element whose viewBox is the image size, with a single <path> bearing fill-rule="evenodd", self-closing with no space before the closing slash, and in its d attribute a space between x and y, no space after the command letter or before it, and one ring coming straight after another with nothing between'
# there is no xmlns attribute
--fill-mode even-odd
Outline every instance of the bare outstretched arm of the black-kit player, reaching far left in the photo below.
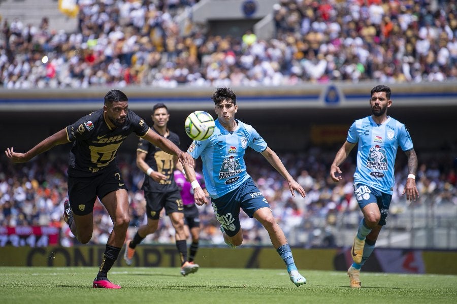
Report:
<svg viewBox="0 0 457 304"><path fill-rule="evenodd" d="M65 129L61 129L25 153L14 152L13 147L11 147L5 150L5 154L12 162L27 162L38 154L46 152L54 146L67 144L69 142L67 131Z"/></svg>

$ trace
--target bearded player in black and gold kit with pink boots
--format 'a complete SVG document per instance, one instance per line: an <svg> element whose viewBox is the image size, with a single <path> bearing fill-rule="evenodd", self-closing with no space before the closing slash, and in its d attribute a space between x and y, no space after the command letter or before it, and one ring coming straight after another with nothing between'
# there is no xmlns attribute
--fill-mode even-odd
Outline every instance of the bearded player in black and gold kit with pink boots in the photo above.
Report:
<svg viewBox="0 0 457 304"><path fill-rule="evenodd" d="M63 128L26 153L5 151L12 162L26 162L56 145L73 142L68 168L68 196L63 218L79 242L92 238L93 206L99 197L110 215L114 227L108 238L95 288L119 289L107 273L119 256L129 224L127 188L116 164L116 152L130 133L151 142L162 151L173 154L184 164L194 164L188 153L159 136L134 112L128 110L127 96L119 90L105 95L103 109L90 113L76 123ZM171 157L171 156L170 156Z"/></svg>

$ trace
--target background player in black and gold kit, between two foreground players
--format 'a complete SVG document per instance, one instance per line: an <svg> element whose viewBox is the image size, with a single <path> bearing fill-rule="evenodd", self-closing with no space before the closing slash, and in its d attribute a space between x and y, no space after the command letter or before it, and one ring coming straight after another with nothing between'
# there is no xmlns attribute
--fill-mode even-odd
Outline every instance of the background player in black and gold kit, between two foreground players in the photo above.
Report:
<svg viewBox="0 0 457 304"><path fill-rule="evenodd" d="M167 128L170 119L167 106L156 104L152 108L152 129L161 137L167 138L179 146L179 137ZM126 242L124 259L127 265L132 264L135 247L148 234L158 228L160 212L165 208L166 215L170 216L176 230L175 241L181 259L181 274L186 276L199 269L198 264L187 261L187 241L184 231L184 207L179 188L176 185L173 171L178 159L143 139L140 139L137 148L137 165L145 173L142 189L146 198L146 215L148 222L138 228L132 240Z"/></svg>

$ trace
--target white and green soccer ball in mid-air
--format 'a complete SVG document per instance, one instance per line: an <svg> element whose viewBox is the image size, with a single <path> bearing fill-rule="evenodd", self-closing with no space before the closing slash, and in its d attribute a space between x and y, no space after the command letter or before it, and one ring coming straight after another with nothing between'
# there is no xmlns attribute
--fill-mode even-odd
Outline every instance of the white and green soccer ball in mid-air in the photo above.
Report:
<svg viewBox="0 0 457 304"><path fill-rule="evenodd" d="M195 111L187 116L184 128L191 139L204 141L214 131L214 119L205 111Z"/></svg>

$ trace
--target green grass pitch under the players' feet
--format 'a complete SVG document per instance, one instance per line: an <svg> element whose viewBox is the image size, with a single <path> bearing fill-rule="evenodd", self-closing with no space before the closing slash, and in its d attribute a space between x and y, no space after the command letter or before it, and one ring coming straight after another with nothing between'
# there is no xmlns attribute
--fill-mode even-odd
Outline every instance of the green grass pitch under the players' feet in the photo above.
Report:
<svg viewBox="0 0 457 304"><path fill-rule="evenodd" d="M0 303L456 303L457 276L305 271L293 285L279 269L115 267L120 290L92 288L94 267L0 267Z"/></svg>

